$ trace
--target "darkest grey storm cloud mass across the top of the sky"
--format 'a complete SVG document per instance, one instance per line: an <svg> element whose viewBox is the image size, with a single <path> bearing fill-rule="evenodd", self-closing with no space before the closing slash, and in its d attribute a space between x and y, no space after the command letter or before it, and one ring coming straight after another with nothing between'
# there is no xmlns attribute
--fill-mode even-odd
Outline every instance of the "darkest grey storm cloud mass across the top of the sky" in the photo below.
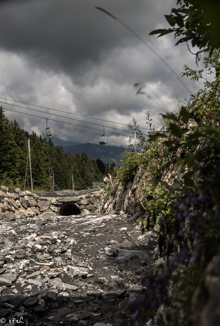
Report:
<svg viewBox="0 0 220 326"><path fill-rule="evenodd" d="M0 7L0 47L22 53L34 66L80 78L113 48L139 42L95 6L120 16L140 34L151 31L154 17L148 13L155 5L149 0L11 0Z"/></svg>

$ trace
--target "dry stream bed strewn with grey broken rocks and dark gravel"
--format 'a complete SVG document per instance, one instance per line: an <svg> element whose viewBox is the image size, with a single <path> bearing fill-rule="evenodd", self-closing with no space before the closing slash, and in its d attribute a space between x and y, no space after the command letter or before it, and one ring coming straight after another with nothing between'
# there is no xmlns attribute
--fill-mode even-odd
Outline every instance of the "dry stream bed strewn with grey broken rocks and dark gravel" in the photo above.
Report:
<svg viewBox="0 0 220 326"><path fill-rule="evenodd" d="M132 221L114 212L2 218L0 325L127 325L157 244Z"/></svg>

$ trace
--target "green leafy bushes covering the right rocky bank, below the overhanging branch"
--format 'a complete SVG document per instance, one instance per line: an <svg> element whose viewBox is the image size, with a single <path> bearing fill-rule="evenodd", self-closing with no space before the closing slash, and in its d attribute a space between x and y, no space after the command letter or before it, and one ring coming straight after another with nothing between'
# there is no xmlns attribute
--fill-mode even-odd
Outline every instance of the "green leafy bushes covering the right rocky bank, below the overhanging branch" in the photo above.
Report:
<svg viewBox="0 0 220 326"><path fill-rule="evenodd" d="M209 93L210 101L216 100L218 89L216 80ZM205 98L200 99L201 108L205 101ZM169 326L193 324L192 296L205 267L213 256L220 254L219 108L210 107L212 115L203 117L195 116L194 110L198 110L198 106L191 108L191 112L189 107L182 107L176 114L164 114L163 119L169 121L164 134L155 132L149 136L153 143L160 140L171 154L171 163L179 165L169 183L163 181L156 187L146 187L147 197L140 205L146 215L137 221L141 223L142 231L155 221L160 224L159 252L168 257L168 265L159 276L146 276L142 280L150 290L151 284L155 284L150 294L156 308L160 304L166 305L164 301L169 303L169 308L163 310L163 317L158 314L155 324L164 318ZM179 244L179 255L174 256L172 238ZM137 300L133 305L141 314L145 311L146 316L152 316L151 305L146 309L148 288L143 300ZM163 302L159 300L160 296ZM136 316L137 311L134 311Z"/></svg>

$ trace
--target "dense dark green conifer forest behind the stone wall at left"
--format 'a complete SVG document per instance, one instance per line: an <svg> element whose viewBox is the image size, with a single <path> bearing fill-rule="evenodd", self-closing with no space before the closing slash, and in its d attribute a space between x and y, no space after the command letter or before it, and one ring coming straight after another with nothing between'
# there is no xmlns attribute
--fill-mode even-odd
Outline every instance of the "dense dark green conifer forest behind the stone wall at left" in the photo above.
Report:
<svg viewBox="0 0 220 326"><path fill-rule="evenodd" d="M72 189L72 172L75 190L86 189L92 182L102 182L103 174L114 170L114 163L104 164L100 159L91 159L85 153L64 153L62 146L54 147L33 131L21 129L16 120L9 121L0 107L0 183L30 190L30 165L28 158L30 139L32 178L35 191L50 191L49 168L54 173L55 190ZM51 176L52 171L50 170Z"/></svg>

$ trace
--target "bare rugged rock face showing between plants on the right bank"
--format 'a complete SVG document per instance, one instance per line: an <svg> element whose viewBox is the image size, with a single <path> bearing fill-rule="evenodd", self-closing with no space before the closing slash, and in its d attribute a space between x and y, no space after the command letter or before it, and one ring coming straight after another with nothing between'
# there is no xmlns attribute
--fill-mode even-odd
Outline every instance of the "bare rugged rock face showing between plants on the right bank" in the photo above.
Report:
<svg viewBox="0 0 220 326"><path fill-rule="evenodd" d="M196 124L194 120L190 120L188 123L188 127L193 127ZM180 181L182 178L182 174L180 171L180 167L177 163L177 159L179 157L184 157L183 149L178 149L174 155L169 160L167 167L164 171L162 180L166 181L169 185L173 183L173 177ZM197 180L197 175L194 175L194 179ZM149 182L154 182L154 180L146 179L146 173L143 172L142 168L139 167L137 173L134 177L134 180L131 180L128 185L125 187L120 183L116 183L112 188L112 193L115 193L114 197L107 198L107 195L104 191L100 191L100 198L94 204L94 212L112 212L115 211L116 213L125 213L127 215L132 216L133 219L137 219L138 217L144 217L145 211L144 209L139 209L140 201L146 198L146 194L144 192L145 187L148 185ZM143 185L143 187L141 187ZM197 194L198 197L198 194ZM186 201L186 205L187 205ZM185 206L186 206L185 205ZM202 204L198 207L198 210L202 207ZM216 210L215 206L213 210ZM193 207L191 207L192 209ZM182 211L183 213L183 211ZM206 213L205 213L206 214ZM204 218L205 215L204 214ZM217 214L217 213L216 213ZM185 219L183 214L183 221L182 225L179 230L183 233L183 239L185 243L188 245L188 253L190 255L193 253L194 249L198 246L198 239L190 234L189 229L187 230L187 223L189 221L187 218ZM195 215L196 216L196 215ZM217 215L216 215L217 216ZM218 217L219 218L219 213ZM205 223L205 220L204 220ZM154 231L159 231L160 226L154 228ZM168 266L171 264L175 265L171 272L172 276L179 274L181 277L185 277L187 280L187 276L184 273L186 271L186 267L190 267L193 264L193 259L190 260L188 257L184 258L184 251L181 250L183 248L181 246L180 237L178 238L176 234L163 234L163 238L159 237L158 243L160 242L160 248L157 244L156 248L154 249L154 274L160 273L161 269L163 269L162 273L167 273ZM212 231L212 230L210 230ZM208 236L208 235L207 235ZM178 239L178 241L176 240ZM214 239L210 239L210 241L214 241ZM182 255L182 257L181 257ZM180 257L180 259L178 258ZM195 258L191 256L191 258ZM175 260L175 264L172 260ZM214 256L211 261L207 261L207 266L204 268L204 271L200 271L202 273L202 277L200 280L200 284L196 291L194 292L191 298L187 298L190 300L191 309L188 313L192 313L192 324L194 326L216 326L220 325L219 323L219 311L220 311L220 259L217 256ZM191 274L188 271L189 277L189 284ZM171 279L171 278L170 278ZM165 306L161 304L156 317L146 323L145 326L150 326L154 324L156 318L162 319L163 324L167 326L172 326L177 324L178 322L182 323L182 319L184 319L184 312L180 314L178 302L175 303L175 296L176 293L181 292L181 282L176 283L175 288L172 285L172 281L170 281L169 286L167 287L168 290L168 297L169 301L172 303L170 306ZM194 289L192 287L192 289ZM183 298L182 298L183 299ZM185 299L186 300L186 299ZM187 313L187 312L186 312ZM179 321L178 321L179 319Z"/></svg>

